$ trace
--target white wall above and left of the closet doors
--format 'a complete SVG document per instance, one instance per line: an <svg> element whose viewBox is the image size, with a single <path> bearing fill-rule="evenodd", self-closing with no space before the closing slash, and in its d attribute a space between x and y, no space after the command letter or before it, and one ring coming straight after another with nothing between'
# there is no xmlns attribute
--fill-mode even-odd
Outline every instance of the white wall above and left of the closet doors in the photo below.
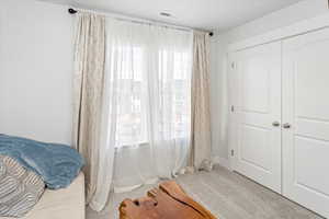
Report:
<svg viewBox="0 0 329 219"><path fill-rule="evenodd" d="M217 33L212 39L212 131L213 155L216 157L217 161L227 162L228 159L227 114L229 106L227 105L226 74L228 44L261 35L328 12L328 0L304 0L226 33Z"/></svg>

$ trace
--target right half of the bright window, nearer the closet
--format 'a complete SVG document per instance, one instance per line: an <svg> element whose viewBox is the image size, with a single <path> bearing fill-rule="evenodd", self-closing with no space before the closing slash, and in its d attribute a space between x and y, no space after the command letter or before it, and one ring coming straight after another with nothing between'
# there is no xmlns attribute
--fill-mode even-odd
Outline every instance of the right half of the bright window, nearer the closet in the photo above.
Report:
<svg viewBox="0 0 329 219"><path fill-rule="evenodd" d="M159 73L163 84L162 135L169 138L186 138L190 127L190 72L189 53L167 50L159 53ZM166 96L168 96L166 99ZM189 126L189 127L186 127Z"/></svg>

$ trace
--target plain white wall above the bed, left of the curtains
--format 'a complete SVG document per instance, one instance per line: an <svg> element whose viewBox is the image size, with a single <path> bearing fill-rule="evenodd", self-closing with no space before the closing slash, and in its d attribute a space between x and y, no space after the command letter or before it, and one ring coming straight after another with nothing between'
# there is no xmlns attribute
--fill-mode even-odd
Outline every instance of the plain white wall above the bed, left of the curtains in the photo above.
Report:
<svg viewBox="0 0 329 219"><path fill-rule="evenodd" d="M0 132L70 143L71 70L66 7L0 1Z"/></svg>

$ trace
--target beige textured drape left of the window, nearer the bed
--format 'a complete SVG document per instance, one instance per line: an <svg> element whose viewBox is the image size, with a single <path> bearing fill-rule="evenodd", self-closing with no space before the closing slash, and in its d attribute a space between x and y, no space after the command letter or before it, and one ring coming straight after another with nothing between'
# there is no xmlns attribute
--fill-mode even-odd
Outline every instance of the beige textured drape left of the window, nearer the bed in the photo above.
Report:
<svg viewBox="0 0 329 219"><path fill-rule="evenodd" d="M86 159L87 201L97 189L105 67L105 20L79 12L73 74L73 145Z"/></svg>

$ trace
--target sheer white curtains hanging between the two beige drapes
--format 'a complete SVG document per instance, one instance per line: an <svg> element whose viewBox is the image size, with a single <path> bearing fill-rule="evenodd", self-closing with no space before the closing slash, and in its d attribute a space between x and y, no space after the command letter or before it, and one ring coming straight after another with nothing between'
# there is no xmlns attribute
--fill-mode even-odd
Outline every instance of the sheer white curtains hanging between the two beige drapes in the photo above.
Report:
<svg viewBox="0 0 329 219"><path fill-rule="evenodd" d="M106 20L103 107L97 193L123 192L186 166L191 134L191 32Z"/></svg>

